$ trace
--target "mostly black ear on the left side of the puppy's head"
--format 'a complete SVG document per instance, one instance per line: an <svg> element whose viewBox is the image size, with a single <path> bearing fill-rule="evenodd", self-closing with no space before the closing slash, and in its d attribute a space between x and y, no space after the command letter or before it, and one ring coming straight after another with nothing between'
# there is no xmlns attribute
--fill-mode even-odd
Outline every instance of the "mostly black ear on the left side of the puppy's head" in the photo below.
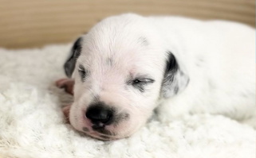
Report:
<svg viewBox="0 0 256 158"><path fill-rule="evenodd" d="M69 58L64 64L65 74L69 78L72 76L73 71L76 67L77 58L81 54L81 42L82 42L82 37L79 37L73 44Z"/></svg>

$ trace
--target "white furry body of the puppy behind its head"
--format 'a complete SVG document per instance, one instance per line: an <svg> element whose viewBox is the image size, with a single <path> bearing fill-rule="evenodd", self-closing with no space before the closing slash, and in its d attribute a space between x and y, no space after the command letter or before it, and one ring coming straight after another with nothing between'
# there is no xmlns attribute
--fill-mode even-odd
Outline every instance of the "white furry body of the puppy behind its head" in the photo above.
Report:
<svg viewBox="0 0 256 158"><path fill-rule="evenodd" d="M254 115L254 29L228 21L180 17L152 17L152 21L164 28L160 31L167 38L167 47L172 47L190 77L183 93L163 101L160 110L169 114L161 118L187 112L226 114L236 119Z"/></svg>

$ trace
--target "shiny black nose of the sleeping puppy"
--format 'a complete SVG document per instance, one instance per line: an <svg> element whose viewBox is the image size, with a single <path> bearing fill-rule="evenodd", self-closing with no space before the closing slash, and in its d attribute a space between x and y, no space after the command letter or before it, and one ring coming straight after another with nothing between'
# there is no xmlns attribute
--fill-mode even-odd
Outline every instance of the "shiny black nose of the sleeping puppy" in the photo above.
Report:
<svg viewBox="0 0 256 158"><path fill-rule="evenodd" d="M90 106L85 114L93 124L103 123L108 125L112 121L113 111L104 106Z"/></svg>

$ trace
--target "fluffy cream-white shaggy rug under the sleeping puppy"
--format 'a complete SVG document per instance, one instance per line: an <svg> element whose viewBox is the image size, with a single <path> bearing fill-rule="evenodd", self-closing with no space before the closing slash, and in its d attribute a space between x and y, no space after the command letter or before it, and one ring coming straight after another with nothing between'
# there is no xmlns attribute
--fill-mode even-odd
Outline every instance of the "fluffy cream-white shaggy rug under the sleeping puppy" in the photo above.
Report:
<svg viewBox="0 0 256 158"><path fill-rule="evenodd" d="M119 141L77 133L61 113L72 97L54 86L69 48L0 48L0 157L255 157L255 129L210 114L153 118Z"/></svg>

